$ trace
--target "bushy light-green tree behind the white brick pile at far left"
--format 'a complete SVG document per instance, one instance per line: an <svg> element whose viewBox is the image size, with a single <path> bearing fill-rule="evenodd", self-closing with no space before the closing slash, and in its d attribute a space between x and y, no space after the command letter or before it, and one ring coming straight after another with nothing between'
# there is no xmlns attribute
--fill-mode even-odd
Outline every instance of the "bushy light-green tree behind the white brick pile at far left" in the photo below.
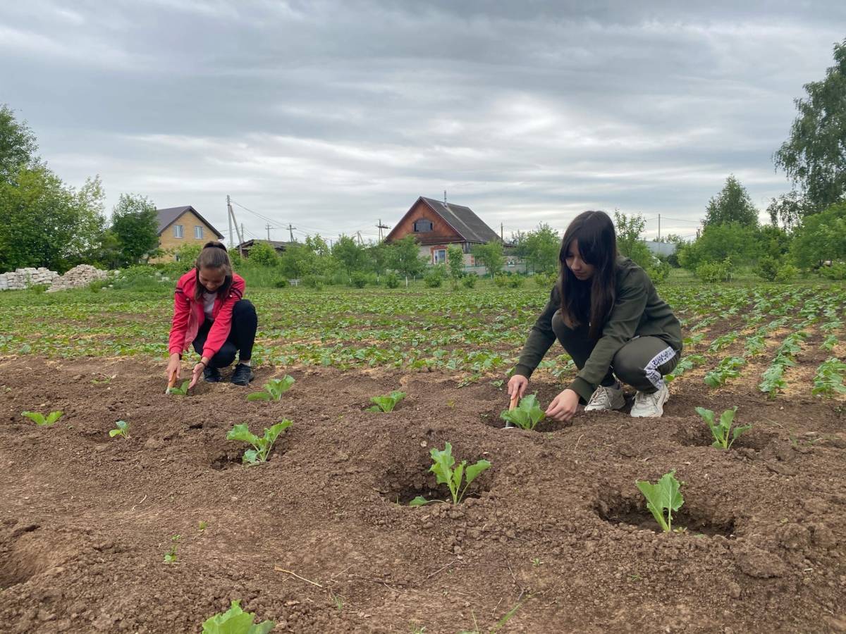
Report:
<svg viewBox="0 0 846 634"><path fill-rule="evenodd" d="M104 221L99 179L79 192L47 167L0 180L0 271L47 266L67 271L96 251Z"/></svg>

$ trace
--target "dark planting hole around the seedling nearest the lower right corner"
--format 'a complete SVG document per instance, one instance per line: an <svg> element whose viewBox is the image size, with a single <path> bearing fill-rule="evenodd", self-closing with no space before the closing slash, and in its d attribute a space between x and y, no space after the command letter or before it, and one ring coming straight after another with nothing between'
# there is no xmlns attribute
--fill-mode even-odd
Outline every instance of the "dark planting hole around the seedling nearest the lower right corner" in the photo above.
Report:
<svg viewBox="0 0 846 634"><path fill-rule="evenodd" d="M661 527L655 517L646 508L646 500L643 498L624 498L616 495L609 500L600 500L595 507L596 515L610 524L626 524L640 530L650 530L662 533ZM673 513L673 529L684 528L684 533L692 536L722 535L733 537L733 517L715 517L698 511L695 507L689 507L688 502Z"/></svg>

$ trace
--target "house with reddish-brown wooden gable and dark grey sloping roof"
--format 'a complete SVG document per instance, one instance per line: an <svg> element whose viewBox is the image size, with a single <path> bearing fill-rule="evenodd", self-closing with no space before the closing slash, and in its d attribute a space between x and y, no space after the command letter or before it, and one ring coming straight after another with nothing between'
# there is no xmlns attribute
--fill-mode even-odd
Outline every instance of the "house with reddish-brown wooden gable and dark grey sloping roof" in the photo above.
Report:
<svg viewBox="0 0 846 634"><path fill-rule="evenodd" d="M464 265L475 265L470 253L475 244L502 241L497 232L488 227L470 207L453 205L442 200L420 196L396 227L387 234L385 242L391 243L413 235L420 243L420 254L431 264L447 261L447 249L458 244L464 252Z"/></svg>

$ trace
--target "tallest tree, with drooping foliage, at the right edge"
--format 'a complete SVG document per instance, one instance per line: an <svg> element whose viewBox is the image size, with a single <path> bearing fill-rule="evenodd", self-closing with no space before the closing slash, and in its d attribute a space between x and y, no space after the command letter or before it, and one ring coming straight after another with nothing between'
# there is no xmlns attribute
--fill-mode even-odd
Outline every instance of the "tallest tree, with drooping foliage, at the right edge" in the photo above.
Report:
<svg viewBox="0 0 846 634"><path fill-rule="evenodd" d="M846 39L834 45L826 78L803 88L808 96L794 100L799 116L773 161L819 211L846 195Z"/></svg>

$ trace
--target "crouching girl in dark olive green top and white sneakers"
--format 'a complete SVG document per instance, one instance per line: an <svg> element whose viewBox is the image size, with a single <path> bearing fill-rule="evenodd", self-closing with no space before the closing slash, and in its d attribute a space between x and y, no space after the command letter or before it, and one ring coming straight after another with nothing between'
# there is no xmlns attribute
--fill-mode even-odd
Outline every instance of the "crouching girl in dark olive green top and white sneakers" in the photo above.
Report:
<svg viewBox="0 0 846 634"><path fill-rule="evenodd" d="M622 409L620 381L634 387L634 417L661 416L669 398L664 374L682 350L681 326L640 266L617 253L611 218L585 211L564 232L561 273L532 326L508 395L525 394L529 377L558 339L579 369L552 399L547 416L569 421L579 402L586 411Z"/></svg>

